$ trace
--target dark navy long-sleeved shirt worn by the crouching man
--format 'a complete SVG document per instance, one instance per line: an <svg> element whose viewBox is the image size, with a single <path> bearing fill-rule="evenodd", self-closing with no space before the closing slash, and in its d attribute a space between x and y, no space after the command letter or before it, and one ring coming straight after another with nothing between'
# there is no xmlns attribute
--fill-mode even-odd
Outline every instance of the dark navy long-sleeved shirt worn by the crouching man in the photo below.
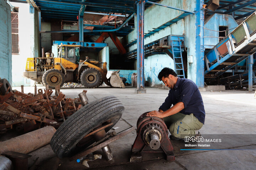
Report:
<svg viewBox="0 0 256 170"><path fill-rule="evenodd" d="M172 104L175 105L178 102L183 102L185 107L180 113L193 113L194 116L204 124L205 111L202 96L197 85L192 80L178 77L174 89L170 89L165 102L159 109L166 111Z"/></svg>

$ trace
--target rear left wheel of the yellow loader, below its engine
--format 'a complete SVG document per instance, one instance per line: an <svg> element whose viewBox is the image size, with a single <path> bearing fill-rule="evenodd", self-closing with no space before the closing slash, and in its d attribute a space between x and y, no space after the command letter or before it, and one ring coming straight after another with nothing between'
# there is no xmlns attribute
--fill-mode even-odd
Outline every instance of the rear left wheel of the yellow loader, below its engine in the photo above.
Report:
<svg viewBox="0 0 256 170"><path fill-rule="evenodd" d="M54 78L54 81L52 81ZM64 84L65 78L64 74L57 69L49 69L44 72L42 77L42 83L44 86L49 85L50 89L55 89L55 86L60 85L60 87Z"/></svg>

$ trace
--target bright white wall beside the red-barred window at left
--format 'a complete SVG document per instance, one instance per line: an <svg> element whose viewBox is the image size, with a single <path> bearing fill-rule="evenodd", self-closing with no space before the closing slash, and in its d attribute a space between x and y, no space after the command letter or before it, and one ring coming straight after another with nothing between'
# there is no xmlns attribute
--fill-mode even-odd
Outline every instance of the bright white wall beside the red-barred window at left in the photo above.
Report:
<svg viewBox="0 0 256 170"><path fill-rule="evenodd" d="M29 4L10 2L18 7L20 53L12 55L12 86L30 86L30 79L22 77L28 57L38 57L39 33L37 11L30 13Z"/></svg>

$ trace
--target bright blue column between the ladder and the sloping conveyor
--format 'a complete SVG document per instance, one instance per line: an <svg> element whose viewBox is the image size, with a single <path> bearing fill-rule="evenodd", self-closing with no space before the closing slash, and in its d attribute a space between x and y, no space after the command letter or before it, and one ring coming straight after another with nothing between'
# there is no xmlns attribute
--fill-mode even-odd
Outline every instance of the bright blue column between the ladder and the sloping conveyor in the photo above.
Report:
<svg viewBox="0 0 256 170"><path fill-rule="evenodd" d="M196 85L204 87L204 0L196 5Z"/></svg>

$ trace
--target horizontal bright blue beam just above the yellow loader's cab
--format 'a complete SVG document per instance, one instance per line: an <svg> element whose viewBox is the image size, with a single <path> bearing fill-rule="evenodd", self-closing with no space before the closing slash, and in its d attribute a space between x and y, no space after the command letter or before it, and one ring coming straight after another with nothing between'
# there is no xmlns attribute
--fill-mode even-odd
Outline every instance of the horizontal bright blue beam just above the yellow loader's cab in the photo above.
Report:
<svg viewBox="0 0 256 170"><path fill-rule="evenodd" d="M81 47L88 48L104 48L107 46L107 43L99 42L78 42L78 41L53 41L53 44L64 44L64 45L81 45Z"/></svg>

